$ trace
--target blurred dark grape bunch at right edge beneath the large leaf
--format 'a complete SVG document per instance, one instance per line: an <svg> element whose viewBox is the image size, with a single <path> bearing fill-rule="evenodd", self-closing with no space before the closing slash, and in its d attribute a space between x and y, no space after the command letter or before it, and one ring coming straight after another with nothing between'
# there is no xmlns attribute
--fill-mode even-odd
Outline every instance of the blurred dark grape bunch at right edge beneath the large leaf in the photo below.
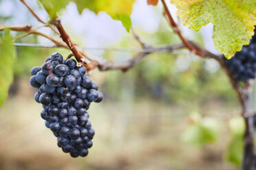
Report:
<svg viewBox="0 0 256 170"><path fill-rule="evenodd" d="M244 45L242 50L235 53L233 58L226 60L226 65L235 80L247 82L249 79L254 79L256 73L256 35L250 40L249 45Z"/></svg>

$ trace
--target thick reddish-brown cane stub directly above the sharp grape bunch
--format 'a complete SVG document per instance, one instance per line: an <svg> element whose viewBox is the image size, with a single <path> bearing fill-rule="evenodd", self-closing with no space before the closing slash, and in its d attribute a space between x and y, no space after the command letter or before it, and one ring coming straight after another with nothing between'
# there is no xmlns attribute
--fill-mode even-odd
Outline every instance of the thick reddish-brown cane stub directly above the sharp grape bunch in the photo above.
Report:
<svg viewBox="0 0 256 170"><path fill-rule="evenodd" d="M76 46L73 44L73 42L70 40L70 36L67 35L67 32L63 28L61 24L61 19L56 17L52 23L57 27L58 32L61 34L62 40L67 44L67 46L70 48L70 50L74 53L74 56L78 62L82 62L84 64L87 64L82 54L76 49Z"/></svg>

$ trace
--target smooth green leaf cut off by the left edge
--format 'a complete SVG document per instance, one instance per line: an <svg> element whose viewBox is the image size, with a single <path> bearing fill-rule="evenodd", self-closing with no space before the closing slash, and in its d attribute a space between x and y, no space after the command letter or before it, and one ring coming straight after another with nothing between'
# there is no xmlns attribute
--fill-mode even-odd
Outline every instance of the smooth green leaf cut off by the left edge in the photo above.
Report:
<svg viewBox="0 0 256 170"><path fill-rule="evenodd" d="M0 36L0 106L4 99L8 96L8 89L13 80L13 69L15 56L14 46L12 45L12 37L10 31L3 32L3 40Z"/></svg>

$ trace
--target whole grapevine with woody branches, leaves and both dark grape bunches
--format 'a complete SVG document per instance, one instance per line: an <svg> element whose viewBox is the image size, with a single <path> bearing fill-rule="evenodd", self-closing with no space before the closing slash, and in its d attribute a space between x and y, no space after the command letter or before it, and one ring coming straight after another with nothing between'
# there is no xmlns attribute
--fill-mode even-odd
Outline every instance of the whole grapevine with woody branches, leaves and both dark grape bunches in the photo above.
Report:
<svg viewBox="0 0 256 170"><path fill-rule="evenodd" d="M248 44L250 37L253 36L253 39L250 40L250 45L244 46L242 51L235 53L235 56L231 60L226 60L224 56L211 53L204 47L186 39L178 24L175 23L166 1L148 0L148 4L151 5L157 5L158 2L162 2L164 16L169 22L169 25L173 28L173 32L180 38L181 43L177 45L167 45L165 47L153 47L153 45L147 45L140 39L140 36L133 32L135 40L137 40L141 46L141 50L138 51L133 58L119 62L87 55L82 47L79 47L79 45L71 40L63 25L61 25L61 19L57 16L57 14L59 14L58 12L65 7L65 3L69 1L63 1L64 5L57 1L40 2L43 8L45 8L45 12L49 14L49 21L43 21L36 12L30 8L30 5L28 5L25 0L21 0L21 3L28 8L35 19L39 21L39 23L42 23L43 27L50 28L54 34L45 34L31 25L0 25L0 31L10 29L14 32L25 32L21 34L21 36L12 39L10 45L17 45L16 40L30 34L35 34L36 36L43 36L54 42L53 47L62 47L72 51L72 55L76 60L72 58L64 60L61 53L53 53L52 56L45 59L45 63L41 66L34 66L31 69L30 77L31 86L38 89L34 94L34 99L36 102L43 105L41 117L45 120L45 126L57 137L57 145L61 147L65 153L70 153L70 156L74 158L78 156L85 157L88 154L88 149L92 147L92 139L94 138L95 132L89 121L89 113L87 110L92 102L98 103L102 101L103 94L98 91L98 85L92 82L92 79L88 77L87 71L98 68L100 71L119 69L125 72L144 60L150 53L163 51L171 53L173 50L185 48L200 58L211 58L217 61L228 77L237 95L241 106L241 116L246 126L244 132L243 169L252 170L254 168L256 160L253 124L256 125L256 119L255 113L248 108L248 101L250 95L250 80L255 79L256 73L256 36L253 36L253 25L255 25L253 17L256 17L256 3L250 3L248 1L241 1L239 3L227 1L223 5L223 2L215 3L214 1L188 2L186 0L171 0L178 8L178 16L182 19L183 23L189 25L189 27L196 31L198 31L202 25L206 25L210 22L213 23L213 40L215 47L220 49L222 53L225 53L227 58L231 58L235 51L241 49L242 45ZM98 5L98 2L100 1L90 2L90 6L92 5L93 7L90 10L94 10L96 13L102 10L99 8L101 5ZM75 3L76 5L78 5L78 3L83 5L78 6L78 10L89 7L88 4L83 3L83 1L77 1ZM112 7L113 4L111 3L111 1L107 1L106 4ZM129 22L130 13L125 13L128 14L128 19L127 17L123 17L122 8L118 8L118 4L121 4L121 7L125 6L123 3L115 1L115 8L110 8L111 10L108 9L106 12L113 17L113 19L116 19L116 16L118 16L120 17L120 21L127 21L127 27L125 28L129 31L131 28L131 24L129 25L129 23L131 23ZM56 10L56 5L59 7L58 10ZM130 1L127 5L131 11L133 1ZM226 6L228 10L223 10L222 8L226 8ZM114 10L121 12L119 14L114 12ZM228 22L230 20L231 25L230 22ZM122 24L125 26L124 23ZM231 30L233 32L229 31L230 29L228 28L230 27L232 27ZM226 28L227 30L225 30ZM234 29L236 30L234 31ZM231 44L229 45L227 42L231 42ZM10 82L11 81L9 81L9 83ZM1 81L0 85L2 85Z"/></svg>

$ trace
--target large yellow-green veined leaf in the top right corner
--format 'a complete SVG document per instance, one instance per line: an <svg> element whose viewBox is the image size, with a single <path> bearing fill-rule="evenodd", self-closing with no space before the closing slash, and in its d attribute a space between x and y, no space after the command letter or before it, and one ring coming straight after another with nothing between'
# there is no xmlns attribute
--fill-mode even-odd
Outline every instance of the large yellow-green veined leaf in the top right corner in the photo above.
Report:
<svg viewBox="0 0 256 170"><path fill-rule="evenodd" d="M253 36L255 0L171 0L184 25L198 31L213 23L213 44L226 58L234 56Z"/></svg>

